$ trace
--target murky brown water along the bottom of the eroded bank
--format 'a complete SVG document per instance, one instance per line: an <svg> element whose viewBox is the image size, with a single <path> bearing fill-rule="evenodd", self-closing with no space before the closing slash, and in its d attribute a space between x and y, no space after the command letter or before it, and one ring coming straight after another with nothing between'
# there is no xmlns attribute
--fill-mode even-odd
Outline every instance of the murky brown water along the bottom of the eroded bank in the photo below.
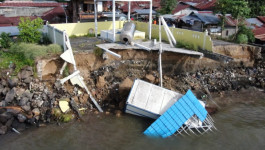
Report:
<svg viewBox="0 0 265 150"><path fill-rule="evenodd" d="M22 135L0 136L1 150L75 150L75 149L246 149L265 146L265 97L257 93L236 96L255 99L255 103L234 104L213 115L219 131L203 136L148 138L142 132L152 120L123 115L89 115L84 122L30 129ZM231 99L231 97L229 97Z"/></svg>

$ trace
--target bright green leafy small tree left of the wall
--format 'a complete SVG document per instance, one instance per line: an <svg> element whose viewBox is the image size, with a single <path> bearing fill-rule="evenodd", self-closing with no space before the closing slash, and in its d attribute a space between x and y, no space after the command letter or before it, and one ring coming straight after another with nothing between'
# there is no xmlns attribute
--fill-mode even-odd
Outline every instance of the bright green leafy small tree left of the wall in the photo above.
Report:
<svg viewBox="0 0 265 150"><path fill-rule="evenodd" d="M20 22L18 24L19 37L22 42L26 43L38 43L41 38L40 29L43 27L43 20L37 18L30 20L29 17L20 17Z"/></svg>

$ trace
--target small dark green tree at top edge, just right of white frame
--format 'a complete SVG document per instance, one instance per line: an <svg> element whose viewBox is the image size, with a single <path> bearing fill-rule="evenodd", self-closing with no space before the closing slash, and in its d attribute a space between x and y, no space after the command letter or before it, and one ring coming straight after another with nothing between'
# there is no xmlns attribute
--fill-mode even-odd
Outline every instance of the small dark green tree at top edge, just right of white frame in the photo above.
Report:
<svg viewBox="0 0 265 150"><path fill-rule="evenodd" d="M177 0L161 0L160 4L162 6L160 9L161 14L171 14L177 6Z"/></svg>

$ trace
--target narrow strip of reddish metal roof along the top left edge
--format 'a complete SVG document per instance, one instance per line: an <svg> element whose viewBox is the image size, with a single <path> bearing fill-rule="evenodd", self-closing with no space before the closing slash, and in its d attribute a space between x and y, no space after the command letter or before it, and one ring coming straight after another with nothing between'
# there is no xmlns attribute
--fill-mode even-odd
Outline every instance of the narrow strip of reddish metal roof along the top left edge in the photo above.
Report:
<svg viewBox="0 0 265 150"><path fill-rule="evenodd" d="M0 7L57 7L57 2L7 1L0 3Z"/></svg>

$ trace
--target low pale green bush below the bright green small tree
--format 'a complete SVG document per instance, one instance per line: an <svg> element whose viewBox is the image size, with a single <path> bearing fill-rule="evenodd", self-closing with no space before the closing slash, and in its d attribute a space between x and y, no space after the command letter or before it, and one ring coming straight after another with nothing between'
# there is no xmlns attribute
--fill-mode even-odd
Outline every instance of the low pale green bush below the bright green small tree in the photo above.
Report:
<svg viewBox="0 0 265 150"><path fill-rule="evenodd" d="M44 57L47 54L59 54L62 52L62 48L56 44L50 44L48 46L20 43L10 47L11 53L17 53L23 55L27 59L35 59L37 57Z"/></svg>

